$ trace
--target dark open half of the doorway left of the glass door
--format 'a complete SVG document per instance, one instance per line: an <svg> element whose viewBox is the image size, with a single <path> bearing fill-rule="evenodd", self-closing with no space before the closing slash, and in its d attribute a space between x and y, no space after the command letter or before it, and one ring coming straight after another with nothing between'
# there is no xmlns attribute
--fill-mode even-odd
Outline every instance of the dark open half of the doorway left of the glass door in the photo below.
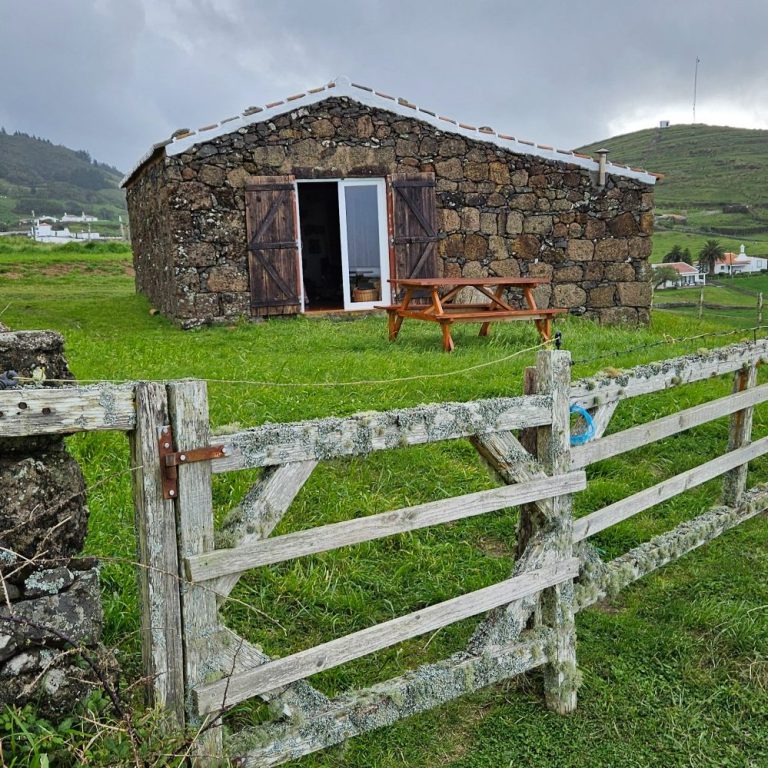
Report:
<svg viewBox="0 0 768 768"><path fill-rule="evenodd" d="M318 182L298 188L304 308L343 309L338 184Z"/></svg>

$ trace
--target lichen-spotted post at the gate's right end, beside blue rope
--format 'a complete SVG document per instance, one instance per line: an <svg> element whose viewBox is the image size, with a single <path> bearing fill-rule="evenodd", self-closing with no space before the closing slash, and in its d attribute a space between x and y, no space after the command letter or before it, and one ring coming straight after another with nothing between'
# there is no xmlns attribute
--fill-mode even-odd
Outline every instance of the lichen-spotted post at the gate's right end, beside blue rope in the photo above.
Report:
<svg viewBox="0 0 768 768"><path fill-rule="evenodd" d="M536 359L535 377L526 375L526 388L552 397L552 424L536 430L536 456L550 475L568 472L571 466L570 429L571 356L565 351L541 351ZM548 514L534 506L520 510L518 552L537 533L544 532L557 560L573 556L571 497L550 500ZM544 666L544 696L550 709L566 714L576 708L576 624L573 581L566 581L542 593L537 621L555 631L554 647Z"/></svg>

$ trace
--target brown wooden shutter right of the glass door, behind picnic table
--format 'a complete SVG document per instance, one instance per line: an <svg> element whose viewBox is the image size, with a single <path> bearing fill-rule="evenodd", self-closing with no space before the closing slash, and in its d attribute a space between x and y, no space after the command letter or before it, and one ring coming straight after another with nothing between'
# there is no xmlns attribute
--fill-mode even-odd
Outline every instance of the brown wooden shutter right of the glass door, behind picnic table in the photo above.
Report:
<svg viewBox="0 0 768 768"><path fill-rule="evenodd" d="M395 277L439 277L434 173L393 173L392 249Z"/></svg>

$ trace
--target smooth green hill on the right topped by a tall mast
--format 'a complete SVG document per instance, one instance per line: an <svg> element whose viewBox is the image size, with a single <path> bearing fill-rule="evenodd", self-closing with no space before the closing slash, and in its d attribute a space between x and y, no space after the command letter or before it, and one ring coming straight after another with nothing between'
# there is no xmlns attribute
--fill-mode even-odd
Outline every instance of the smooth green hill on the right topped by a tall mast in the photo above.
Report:
<svg viewBox="0 0 768 768"><path fill-rule="evenodd" d="M664 174L656 188L659 208L768 206L768 131L672 125L603 139L578 151L594 154L600 147L610 150L609 160Z"/></svg>

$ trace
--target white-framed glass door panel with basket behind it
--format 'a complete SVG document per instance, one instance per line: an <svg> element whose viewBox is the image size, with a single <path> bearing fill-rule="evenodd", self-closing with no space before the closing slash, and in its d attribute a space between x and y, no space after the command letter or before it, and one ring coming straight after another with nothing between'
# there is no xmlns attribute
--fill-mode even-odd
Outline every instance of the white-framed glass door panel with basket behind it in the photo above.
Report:
<svg viewBox="0 0 768 768"><path fill-rule="evenodd" d="M339 223L344 309L371 309L389 287L384 179L339 181Z"/></svg>

